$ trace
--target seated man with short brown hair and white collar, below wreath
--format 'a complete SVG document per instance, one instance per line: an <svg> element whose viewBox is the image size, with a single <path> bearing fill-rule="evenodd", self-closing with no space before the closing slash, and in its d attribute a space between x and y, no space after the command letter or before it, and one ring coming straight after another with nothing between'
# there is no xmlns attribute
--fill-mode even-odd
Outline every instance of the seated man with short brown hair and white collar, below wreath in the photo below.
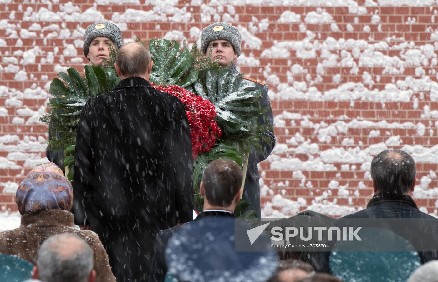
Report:
<svg viewBox="0 0 438 282"><path fill-rule="evenodd" d="M204 181L201 182L201 196L204 196L204 211L194 219L208 217L234 218L233 212L240 199L242 185L242 170L235 161L229 159L213 160L204 172ZM191 223L187 223L190 225ZM157 236L155 255L149 282L162 282L166 276L167 266L164 260L164 251L172 235L187 225L176 226L162 230Z"/></svg>

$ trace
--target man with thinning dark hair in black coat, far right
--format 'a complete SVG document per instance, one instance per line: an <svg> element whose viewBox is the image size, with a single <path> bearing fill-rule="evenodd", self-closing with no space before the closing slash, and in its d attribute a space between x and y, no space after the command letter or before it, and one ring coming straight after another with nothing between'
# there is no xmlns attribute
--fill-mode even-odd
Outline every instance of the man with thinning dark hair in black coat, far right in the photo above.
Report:
<svg viewBox="0 0 438 282"><path fill-rule="evenodd" d="M335 224L343 226L343 224L351 223L350 219L354 218L370 218L374 220L373 222L378 222L375 221L375 218L418 219L410 221L413 226L403 226L402 230L393 230L389 226L388 228L406 240L410 239L409 243L418 251L421 263L437 259L438 255L436 252L420 251L424 247L436 246L434 242L427 241L427 237L430 238L430 236L425 236L427 227L432 228L432 226L423 226L425 221L421 219L432 219L433 222L438 219L427 213L420 212L412 198L416 183L415 161L413 158L402 150L385 150L372 160L371 178L373 179L374 196L368 202L367 208L344 216L338 219ZM437 224L434 223L433 225L437 226ZM422 232L423 236L421 235ZM422 240L413 240L413 238L418 236L422 236ZM329 257L330 252L322 254L319 265L320 272L332 272L329 265ZM367 269L366 261L362 258L357 259L358 261L363 260L365 266L362 268Z"/></svg>

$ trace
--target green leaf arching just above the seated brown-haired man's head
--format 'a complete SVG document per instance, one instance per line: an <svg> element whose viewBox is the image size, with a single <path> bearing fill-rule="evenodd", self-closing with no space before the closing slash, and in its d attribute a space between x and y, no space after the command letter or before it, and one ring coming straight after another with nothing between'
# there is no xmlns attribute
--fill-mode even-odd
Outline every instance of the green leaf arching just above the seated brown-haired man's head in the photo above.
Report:
<svg viewBox="0 0 438 282"><path fill-rule="evenodd" d="M200 153L193 161L193 189L194 189L194 209L197 212L202 212L204 208L204 198L199 191L199 185L204 178L205 168L213 160L231 159L242 167L242 157L236 147L226 145L216 145L207 153Z"/></svg>

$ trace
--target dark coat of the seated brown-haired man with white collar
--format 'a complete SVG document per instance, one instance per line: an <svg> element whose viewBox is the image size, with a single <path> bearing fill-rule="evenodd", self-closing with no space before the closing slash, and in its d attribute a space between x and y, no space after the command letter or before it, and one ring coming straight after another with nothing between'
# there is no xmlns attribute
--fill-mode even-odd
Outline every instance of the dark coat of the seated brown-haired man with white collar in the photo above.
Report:
<svg viewBox="0 0 438 282"><path fill-rule="evenodd" d="M215 216L225 216L231 218L234 217L234 215L231 212L207 211L207 212L200 212L192 222L199 219L203 219L207 217L215 217ZM155 246L155 255L152 262L152 268L149 274L149 282L164 281L167 272L166 261L164 259L164 251L166 250L166 245L167 243L169 243L170 238L172 238L172 235L176 233L178 230L180 230L181 228L184 228L184 225L175 226L173 228L169 228L166 230L161 230L158 233L157 244Z"/></svg>

